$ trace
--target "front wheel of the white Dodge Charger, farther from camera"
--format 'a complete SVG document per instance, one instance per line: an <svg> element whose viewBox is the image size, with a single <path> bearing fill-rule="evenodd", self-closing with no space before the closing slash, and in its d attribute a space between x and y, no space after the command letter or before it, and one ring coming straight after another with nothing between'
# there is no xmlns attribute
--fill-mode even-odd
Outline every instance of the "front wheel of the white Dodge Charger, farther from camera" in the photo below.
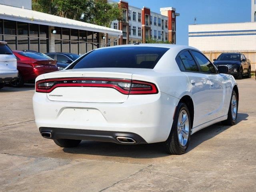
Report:
<svg viewBox="0 0 256 192"><path fill-rule="evenodd" d="M227 120L222 121L222 124L229 125L229 126L236 124L237 112L238 112L238 100L237 100L236 92L233 90L231 99L230 99L229 109L228 109L228 118Z"/></svg>

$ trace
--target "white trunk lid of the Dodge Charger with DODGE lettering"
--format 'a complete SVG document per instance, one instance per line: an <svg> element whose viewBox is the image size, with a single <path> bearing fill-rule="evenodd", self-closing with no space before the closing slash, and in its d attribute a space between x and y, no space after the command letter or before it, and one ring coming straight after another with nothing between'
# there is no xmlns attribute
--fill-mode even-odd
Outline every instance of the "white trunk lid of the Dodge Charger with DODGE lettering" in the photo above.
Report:
<svg viewBox="0 0 256 192"><path fill-rule="evenodd" d="M129 84L132 72L122 72L122 69L113 70L113 68L86 69L86 71L64 70L44 74L44 78L57 78L62 84L50 93L46 93L48 99L52 101L122 103L128 99L128 94L122 93L122 89L116 89L115 84L120 81L122 81L121 84ZM87 86L81 86L82 83Z"/></svg>

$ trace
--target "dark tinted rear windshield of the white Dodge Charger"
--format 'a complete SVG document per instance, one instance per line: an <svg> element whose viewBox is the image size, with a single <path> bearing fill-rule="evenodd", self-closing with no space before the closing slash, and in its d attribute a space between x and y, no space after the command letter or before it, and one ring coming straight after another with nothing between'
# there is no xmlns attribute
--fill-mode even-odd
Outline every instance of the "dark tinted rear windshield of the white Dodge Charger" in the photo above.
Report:
<svg viewBox="0 0 256 192"><path fill-rule="evenodd" d="M146 68L153 69L168 48L116 47L94 50L79 60L79 68Z"/></svg>

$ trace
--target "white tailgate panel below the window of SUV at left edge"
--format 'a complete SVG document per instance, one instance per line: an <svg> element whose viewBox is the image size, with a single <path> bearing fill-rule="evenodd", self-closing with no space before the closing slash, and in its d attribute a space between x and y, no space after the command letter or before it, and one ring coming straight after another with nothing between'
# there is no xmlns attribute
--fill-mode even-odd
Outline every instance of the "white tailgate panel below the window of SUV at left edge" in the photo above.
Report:
<svg viewBox="0 0 256 192"><path fill-rule="evenodd" d="M14 54L0 54L0 71L12 71L17 69L17 60Z"/></svg>

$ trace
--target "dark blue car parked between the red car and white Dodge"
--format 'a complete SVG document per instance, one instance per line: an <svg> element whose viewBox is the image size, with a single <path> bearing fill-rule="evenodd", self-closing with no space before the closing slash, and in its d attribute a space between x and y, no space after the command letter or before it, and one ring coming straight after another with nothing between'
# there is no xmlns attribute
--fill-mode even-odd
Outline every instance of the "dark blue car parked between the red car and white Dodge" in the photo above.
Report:
<svg viewBox="0 0 256 192"><path fill-rule="evenodd" d="M80 57L78 54L63 52L46 53L46 55L54 60L57 60L57 66L59 70L66 68L70 63Z"/></svg>

